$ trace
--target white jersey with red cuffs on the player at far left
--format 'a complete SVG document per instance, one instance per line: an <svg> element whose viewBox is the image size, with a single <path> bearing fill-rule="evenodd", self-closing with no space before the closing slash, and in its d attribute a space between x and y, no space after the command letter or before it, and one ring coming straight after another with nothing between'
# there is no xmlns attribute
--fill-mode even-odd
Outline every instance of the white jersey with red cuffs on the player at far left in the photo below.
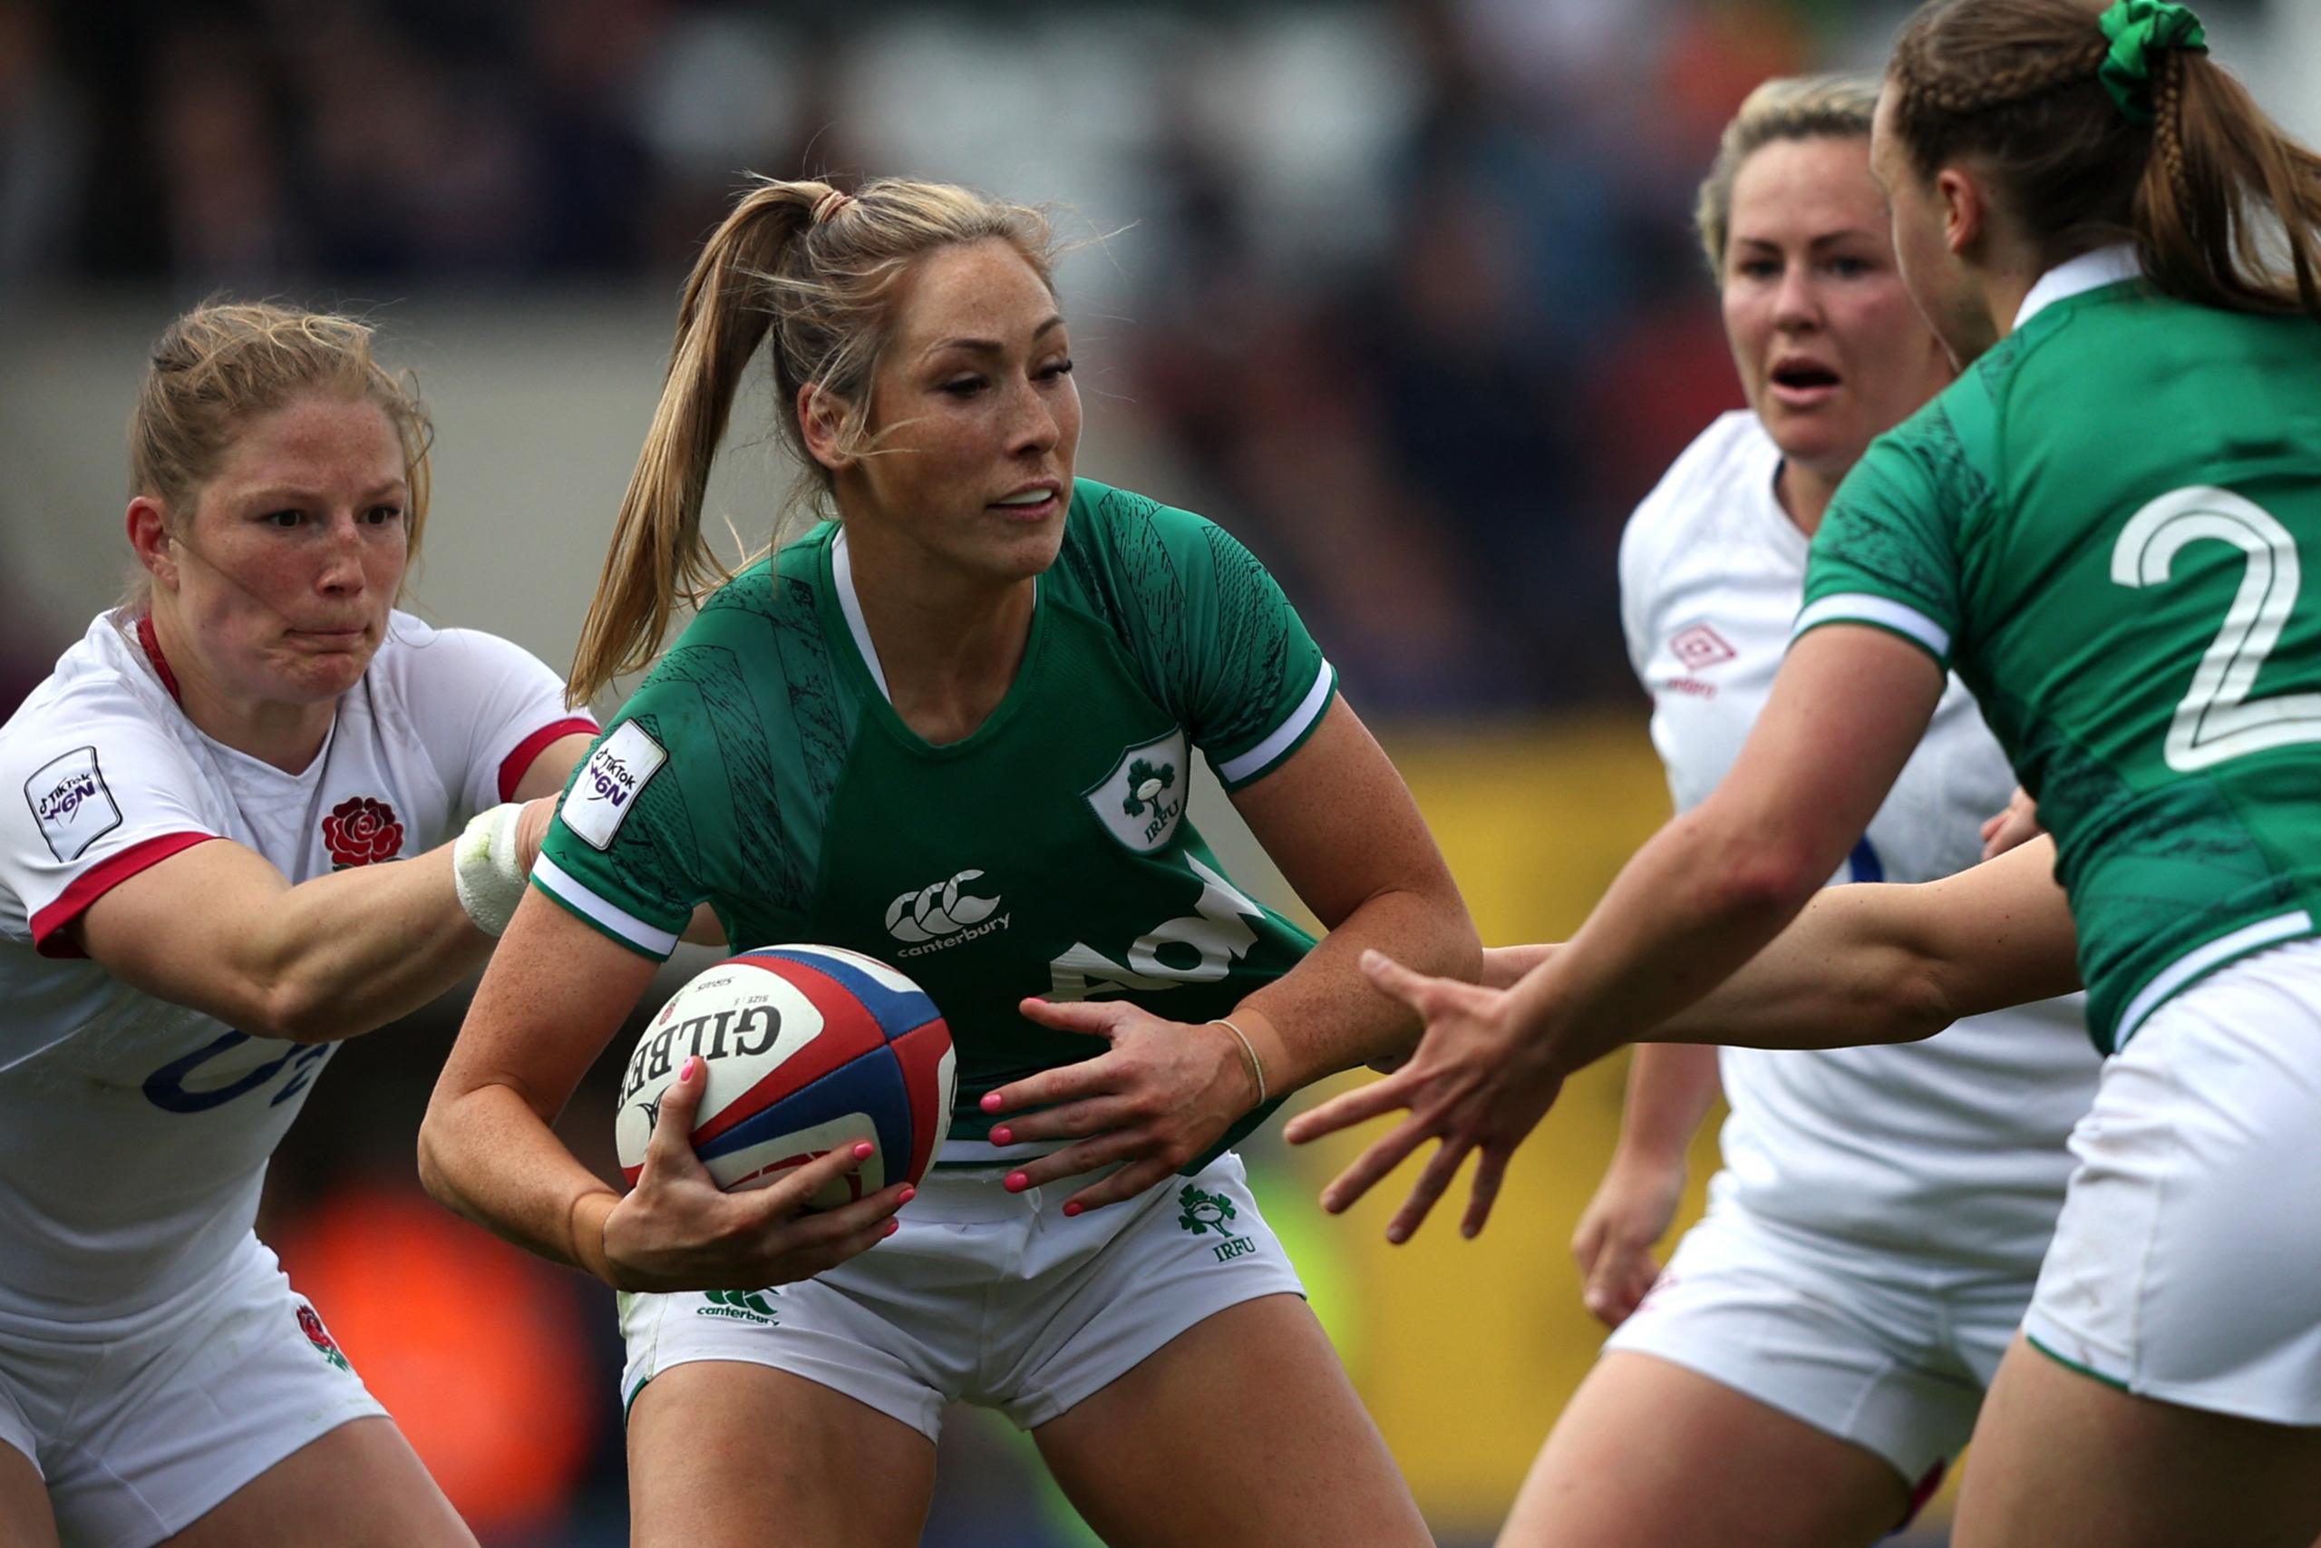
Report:
<svg viewBox="0 0 2321 1548"><path fill-rule="evenodd" d="M211 838L290 882L420 854L594 729L518 645L395 613L292 775L202 736L151 624L100 615L0 726L0 1323L95 1332L195 1288L337 1049L139 993L65 926Z"/></svg>

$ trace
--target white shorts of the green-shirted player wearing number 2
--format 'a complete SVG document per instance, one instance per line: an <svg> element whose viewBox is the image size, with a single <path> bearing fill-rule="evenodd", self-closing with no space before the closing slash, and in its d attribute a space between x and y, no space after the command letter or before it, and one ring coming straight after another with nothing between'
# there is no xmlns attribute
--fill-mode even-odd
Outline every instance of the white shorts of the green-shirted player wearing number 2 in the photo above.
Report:
<svg viewBox="0 0 2321 1548"><path fill-rule="evenodd" d="M2070 1149L2024 1334L2142 1397L2321 1425L2321 942L2154 1010Z"/></svg>

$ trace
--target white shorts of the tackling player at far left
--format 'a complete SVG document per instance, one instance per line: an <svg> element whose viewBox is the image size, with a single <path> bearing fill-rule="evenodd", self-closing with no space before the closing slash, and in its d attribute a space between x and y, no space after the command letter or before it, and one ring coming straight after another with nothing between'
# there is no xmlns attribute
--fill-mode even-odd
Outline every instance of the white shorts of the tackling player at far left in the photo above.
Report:
<svg viewBox="0 0 2321 1548"><path fill-rule="evenodd" d="M0 1323L0 1444L39 1469L65 1548L176 1536L292 1451L383 1413L258 1237L151 1311Z"/></svg>

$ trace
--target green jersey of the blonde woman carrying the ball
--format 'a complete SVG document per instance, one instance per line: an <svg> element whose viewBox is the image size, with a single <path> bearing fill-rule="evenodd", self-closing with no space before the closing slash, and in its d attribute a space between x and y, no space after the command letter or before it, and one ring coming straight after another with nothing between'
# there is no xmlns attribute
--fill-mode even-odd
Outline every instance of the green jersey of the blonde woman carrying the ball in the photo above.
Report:
<svg viewBox="0 0 2321 1548"><path fill-rule="evenodd" d="M532 882L657 959L706 900L736 949L894 963L952 1026L952 1135L979 1140L984 1091L1102 1047L1026 1021L1024 996L1207 1021L1314 945L1202 842L1188 754L1249 784L1335 682L1221 527L1079 480L1014 685L975 736L933 745L887 701L824 525L720 587L655 664L573 773Z"/></svg>

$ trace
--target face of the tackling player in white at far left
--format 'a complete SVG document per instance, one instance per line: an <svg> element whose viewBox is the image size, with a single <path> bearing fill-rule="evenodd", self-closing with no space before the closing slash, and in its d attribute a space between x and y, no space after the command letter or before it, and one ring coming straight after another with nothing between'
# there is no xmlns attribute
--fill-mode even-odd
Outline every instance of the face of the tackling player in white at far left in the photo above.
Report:
<svg viewBox="0 0 2321 1548"><path fill-rule="evenodd" d="M378 404L311 395L248 420L165 548L153 608L220 692L323 703L371 664L404 583L404 448Z"/></svg>

